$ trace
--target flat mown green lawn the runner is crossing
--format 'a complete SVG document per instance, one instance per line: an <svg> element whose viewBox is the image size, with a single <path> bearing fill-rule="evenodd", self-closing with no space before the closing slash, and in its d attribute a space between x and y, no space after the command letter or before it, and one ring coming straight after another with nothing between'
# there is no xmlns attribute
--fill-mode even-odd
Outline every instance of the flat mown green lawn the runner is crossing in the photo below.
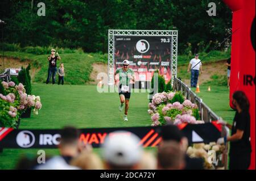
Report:
<svg viewBox="0 0 256 181"><path fill-rule="evenodd" d="M229 92L226 87L200 86L199 96L217 115L224 120L232 120L234 111L229 108ZM117 93L98 93L96 86L45 85L35 83L32 93L39 95L43 104L39 115L22 119L20 129L53 129L64 125L78 128L98 127L139 127L151 124L147 114L147 93L132 93L129 121L122 120L118 111ZM100 149L94 149L97 153ZM36 155L38 149L4 149L0 153L0 169L14 169L21 154ZM58 154L57 149L45 149L47 155Z"/></svg>

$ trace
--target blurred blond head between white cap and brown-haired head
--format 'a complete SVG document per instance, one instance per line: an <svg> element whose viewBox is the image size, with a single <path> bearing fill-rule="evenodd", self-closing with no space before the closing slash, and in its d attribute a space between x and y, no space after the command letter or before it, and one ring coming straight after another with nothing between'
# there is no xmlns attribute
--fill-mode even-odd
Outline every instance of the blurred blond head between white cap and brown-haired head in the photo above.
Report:
<svg viewBox="0 0 256 181"><path fill-rule="evenodd" d="M141 161L139 162L139 170L155 170L157 167L157 160L155 155L149 151L144 151Z"/></svg>

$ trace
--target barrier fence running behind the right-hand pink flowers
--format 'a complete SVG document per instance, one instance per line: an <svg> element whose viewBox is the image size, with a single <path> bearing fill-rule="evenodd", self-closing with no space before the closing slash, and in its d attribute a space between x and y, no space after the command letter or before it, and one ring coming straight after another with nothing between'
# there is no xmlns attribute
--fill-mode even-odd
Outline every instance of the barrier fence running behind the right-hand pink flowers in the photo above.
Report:
<svg viewBox="0 0 256 181"><path fill-rule="evenodd" d="M203 102L199 96L193 92L190 87L185 85L179 78L174 77L173 84L174 91L181 91L181 93L185 96L186 99L190 100L192 103L197 104L197 107L200 111L201 120L205 121L205 123L210 123L215 120L220 120L220 117L216 115L210 108ZM229 136L229 128L222 127L221 136ZM228 169L228 144L225 145L224 153L220 158L224 163L225 169Z"/></svg>

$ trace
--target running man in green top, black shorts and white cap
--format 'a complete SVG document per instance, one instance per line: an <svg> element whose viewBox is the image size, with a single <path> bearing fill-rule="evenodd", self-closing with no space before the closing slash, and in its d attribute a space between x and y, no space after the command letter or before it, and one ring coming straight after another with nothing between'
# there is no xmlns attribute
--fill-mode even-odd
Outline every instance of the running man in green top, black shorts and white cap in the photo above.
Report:
<svg viewBox="0 0 256 181"><path fill-rule="evenodd" d="M131 96L131 85L130 80L134 80L134 71L133 69L129 68L129 61L123 61L123 67L118 68L115 71L115 75L119 74L119 85L118 85L118 92L121 105L119 106L119 111L123 110L123 104L125 103L125 115L123 116L124 121L128 121L127 114L129 108L129 100ZM114 76L115 76L114 75ZM115 78L115 77L114 77ZM115 83L117 83L117 79L115 79Z"/></svg>

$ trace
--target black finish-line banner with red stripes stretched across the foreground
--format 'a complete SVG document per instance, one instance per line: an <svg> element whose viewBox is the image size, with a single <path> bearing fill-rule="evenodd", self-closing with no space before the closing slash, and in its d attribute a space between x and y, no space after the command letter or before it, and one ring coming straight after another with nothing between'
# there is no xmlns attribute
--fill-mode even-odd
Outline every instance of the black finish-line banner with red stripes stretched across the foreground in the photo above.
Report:
<svg viewBox="0 0 256 181"><path fill-rule="evenodd" d="M162 140L161 127L129 127L129 128L88 128L80 129L80 141L98 148L104 143L106 136L114 131L129 131L136 134L143 147L154 147ZM212 142L221 137L221 129L212 123L184 124L179 128L188 138L189 144L194 142ZM20 129L0 128L0 148L56 148L60 141L60 129ZM0 136L1 136L0 135Z"/></svg>

